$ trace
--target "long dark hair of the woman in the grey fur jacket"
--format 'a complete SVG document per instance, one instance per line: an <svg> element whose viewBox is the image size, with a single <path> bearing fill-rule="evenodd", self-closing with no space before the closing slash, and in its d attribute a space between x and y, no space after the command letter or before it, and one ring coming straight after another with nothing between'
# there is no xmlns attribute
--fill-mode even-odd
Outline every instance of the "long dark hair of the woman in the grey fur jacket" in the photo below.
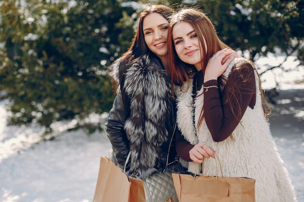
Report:
<svg viewBox="0 0 304 202"><path fill-rule="evenodd" d="M125 52L116 62L119 65L119 86L120 91L124 94L123 86L124 86L124 74L127 69L136 62L139 58L141 58L145 54L153 54L149 47L147 46L144 38L143 32L143 21L146 16L152 13L157 13L163 16L169 22L169 17L173 14L173 10L168 6L164 5L149 5L139 14L139 22L137 25L136 33L132 39L131 45L127 52ZM115 63L115 62L114 62Z"/></svg>

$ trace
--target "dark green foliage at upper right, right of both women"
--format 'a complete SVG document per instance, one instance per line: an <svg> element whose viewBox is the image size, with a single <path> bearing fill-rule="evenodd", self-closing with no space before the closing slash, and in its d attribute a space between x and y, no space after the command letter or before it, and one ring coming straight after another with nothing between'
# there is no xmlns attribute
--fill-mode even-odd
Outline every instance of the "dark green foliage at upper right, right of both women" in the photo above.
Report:
<svg viewBox="0 0 304 202"><path fill-rule="evenodd" d="M220 38L233 48L249 50L253 60L279 48L287 56L296 54L304 64L303 1L210 0L198 4L215 23Z"/></svg>

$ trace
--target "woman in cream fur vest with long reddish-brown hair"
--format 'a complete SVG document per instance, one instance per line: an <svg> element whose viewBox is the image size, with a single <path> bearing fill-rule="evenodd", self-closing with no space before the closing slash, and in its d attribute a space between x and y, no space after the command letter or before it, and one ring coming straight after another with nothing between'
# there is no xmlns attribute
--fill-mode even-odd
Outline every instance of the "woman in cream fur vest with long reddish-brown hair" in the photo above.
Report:
<svg viewBox="0 0 304 202"><path fill-rule="evenodd" d="M295 202L295 194L268 124L268 106L253 63L222 59L230 53L201 11L182 9L171 17L169 67L177 94L176 150L188 171L216 175L217 156L225 177L255 179L256 202ZM186 67L195 67L189 74ZM209 147L208 147L209 146ZM207 148L214 148L207 154Z"/></svg>

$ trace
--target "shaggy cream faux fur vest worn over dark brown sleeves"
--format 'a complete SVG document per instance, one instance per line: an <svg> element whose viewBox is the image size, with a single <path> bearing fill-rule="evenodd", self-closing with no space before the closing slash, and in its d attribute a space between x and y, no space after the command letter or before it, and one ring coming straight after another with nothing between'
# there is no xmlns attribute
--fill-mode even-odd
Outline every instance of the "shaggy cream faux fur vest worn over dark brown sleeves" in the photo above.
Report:
<svg viewBox="0 0 304 202"><path fill-rule="evenodd" d="M236 58L224 72L226 78L236 62L248 62L244 58ZM225 177L248 177L255 179L256 202L296 202L293 187L283 167L283 160L277 152L276 145L270 134L270 128L264 117L259 79L255 72L256 103L253 109L248 107L234 130L233 139L227 138L221 142L212 140L205 121L195 131L193 125L193 111L195 109L195 125L198 125L200 112L203 108L203 95L197 97L192 103L192 82L189 87L185 84L178 89L177 98L177 125L183 136L191 144L199 141L215 149L219 156L223 175ZM197 93L201 94L202 89ZM188 170L200 173L200 165L189 162ZM219 172L218 172L219 173ZM204 173L206 176L216 175L215 159L204 160Z"/></svg>

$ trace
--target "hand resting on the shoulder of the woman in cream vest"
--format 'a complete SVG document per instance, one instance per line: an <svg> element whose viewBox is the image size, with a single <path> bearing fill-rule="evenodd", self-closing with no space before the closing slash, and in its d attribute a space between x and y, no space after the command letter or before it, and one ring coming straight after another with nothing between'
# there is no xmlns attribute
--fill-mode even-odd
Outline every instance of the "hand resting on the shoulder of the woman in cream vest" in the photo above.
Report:
<svg viewBox="0 0 304 202"><path fill-rule="evenodd" d="M208 80L218 79L227 69L231 61L233 61L236 56L235 51L230 49L222 49L218 51L214 56L209 59L206 66L204 82ZM222 63L223 62L223 63Z"/></svg>

